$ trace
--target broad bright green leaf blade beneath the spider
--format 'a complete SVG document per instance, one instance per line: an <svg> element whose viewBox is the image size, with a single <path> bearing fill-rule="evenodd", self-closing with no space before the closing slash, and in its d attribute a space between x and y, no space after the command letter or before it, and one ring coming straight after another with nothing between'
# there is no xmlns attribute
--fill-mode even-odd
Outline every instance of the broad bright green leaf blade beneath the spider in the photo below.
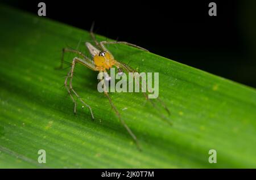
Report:
<svg viewBox="0 0 256 180"><path fill-rule="evenodd" d="M256 168L255 89L130 46L109 45L118 61L159 72L159 97L171 112L173 126L141 93L110 93L137 135L138 151L97 91L97 72L77 65L73 80L94 121L80 102L73 114L61 88L69 71L55 70L61 49L81 42L78 49L89 55L88 32L3 5L0 23L0 168ZM67 53L65 61L73 57ZM46 164L38 163L39 149L46 150ZM208 161L210 149L217 151L216 164Z"/></svg>

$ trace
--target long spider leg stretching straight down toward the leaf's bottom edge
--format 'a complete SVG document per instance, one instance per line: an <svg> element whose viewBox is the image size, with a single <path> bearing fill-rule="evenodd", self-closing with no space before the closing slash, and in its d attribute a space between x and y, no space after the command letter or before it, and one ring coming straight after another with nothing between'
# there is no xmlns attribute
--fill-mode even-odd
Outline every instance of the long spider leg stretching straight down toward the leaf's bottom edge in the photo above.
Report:
<svg viewBox="0 0 256 180"><path fill-rule="evenodd" d="M139 145L138 139L137 137L134 135L133 131L131 131L131 129L129 128L129 126L126 125L125 121L123 121L121 114L118 112L117 108L115 107L115 105L112 102L112 99L109 96L108 91L106 90L106 84L105 84L105 80L101 79L104 82L104 94L106 97L108 97L109 100L109 104L112 106L112 108L114 109L115 114L117 115L119 121L122 123L123 127L126 128L127 132L130 134L130 136L133 138L134 142L137 145L137 148L141 151L141 146Z"/></svg>

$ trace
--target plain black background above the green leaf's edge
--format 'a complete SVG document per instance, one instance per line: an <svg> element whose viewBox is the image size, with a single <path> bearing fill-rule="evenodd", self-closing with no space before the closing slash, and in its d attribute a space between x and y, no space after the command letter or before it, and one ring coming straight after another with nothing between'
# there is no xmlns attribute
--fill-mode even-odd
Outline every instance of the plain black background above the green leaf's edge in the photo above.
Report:
<svg viewBox="0 0 256 180"><path fill-rule="evenodd" d="M256 87L256 1L2 1ZM217 16L209 16L210 2Z"/></svg>

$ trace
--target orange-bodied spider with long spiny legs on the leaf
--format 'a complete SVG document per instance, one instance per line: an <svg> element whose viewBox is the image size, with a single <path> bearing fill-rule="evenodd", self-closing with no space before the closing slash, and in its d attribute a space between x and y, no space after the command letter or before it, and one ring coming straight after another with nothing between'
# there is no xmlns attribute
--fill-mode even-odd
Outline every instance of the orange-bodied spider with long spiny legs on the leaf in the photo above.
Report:
<svg viewBox="0 0 256 180"><path fill-rule="evenodd" d="M75 54L77 54L77 56L79 56L79 57L73 58L71 69L69 70L69 72L65 78L64 85L68 91L69 96L71 97L71 99L74 103L74 113L76 113L76 106L77 106L77 102L74 98L74 96L75 96L75 97L77 97L77 99L79 99L81 101L81 103L84 106L86 106L90 110L92 119L94 119L92 108L90 108L90 106L88 104L86 104L86 102L84 100L82 100L82 98L77 94L77 92L75 91L75 89L72 86L74 70L75 70L75 66L77 65L77 63L84 65L93 71L98 71L98 72L106 72L107 73L107 70L109 70L112 67L116 67L118 69L119 73L122 73L123 70L125 70L126 72L136 72L133 68L126 65L125 63L118 62L117 60L115 60L113 54L110 53L110 51L105 47L105 45L106 44L125 44L125 45L133 46L135 48L138 48L138 49L141 49L144 51L148 51L148 50L141 48L140 46L131 44L129 42L124 42L124 41L100 41L100 42L98 42L93 33L93 26L90 29L90 35L92 36L92 39L97 46L97 48L96 48L89 42L85 42L85 46L88 48L90 54L92 55L92 58L87 57L86 55L84 55L83 53L81 53L78 50L64 48L62 57L61 57L60 68L63 68L64 53L71 52L71 53L75 53ZM69 80L69 82L68 82L68 80ZM105 81L103 80L102 82L105 82ZM104 85L104 87L106 87L106 85ZM138 143L137 137L134 135L133 131L131 131L131 129L126 125L125 121L122 119L118 109L113 104L113 101L110 98L109 93L106 90L106 88L104 88L104 94L108 98L109 103L112 106L112 109L114 110L115 114L117 115L119 121L122 123L123 127L126 128L127 132L130 134L130 136L133 138L134 142L137 144L138 149L141 150L141 147ZM143 93L143 94L147 98L147 93ZM147 98L147 100L148 100L148 98ZM166 106L162 103L162 101L160 101L160 102L164 106L164 108L167 110L167 112L170 113L168 111L168 109L166 108ZM152 105L154 105L154 103L152 103ZM154 107L156 108L155 105L154 105Z"/></svg>

